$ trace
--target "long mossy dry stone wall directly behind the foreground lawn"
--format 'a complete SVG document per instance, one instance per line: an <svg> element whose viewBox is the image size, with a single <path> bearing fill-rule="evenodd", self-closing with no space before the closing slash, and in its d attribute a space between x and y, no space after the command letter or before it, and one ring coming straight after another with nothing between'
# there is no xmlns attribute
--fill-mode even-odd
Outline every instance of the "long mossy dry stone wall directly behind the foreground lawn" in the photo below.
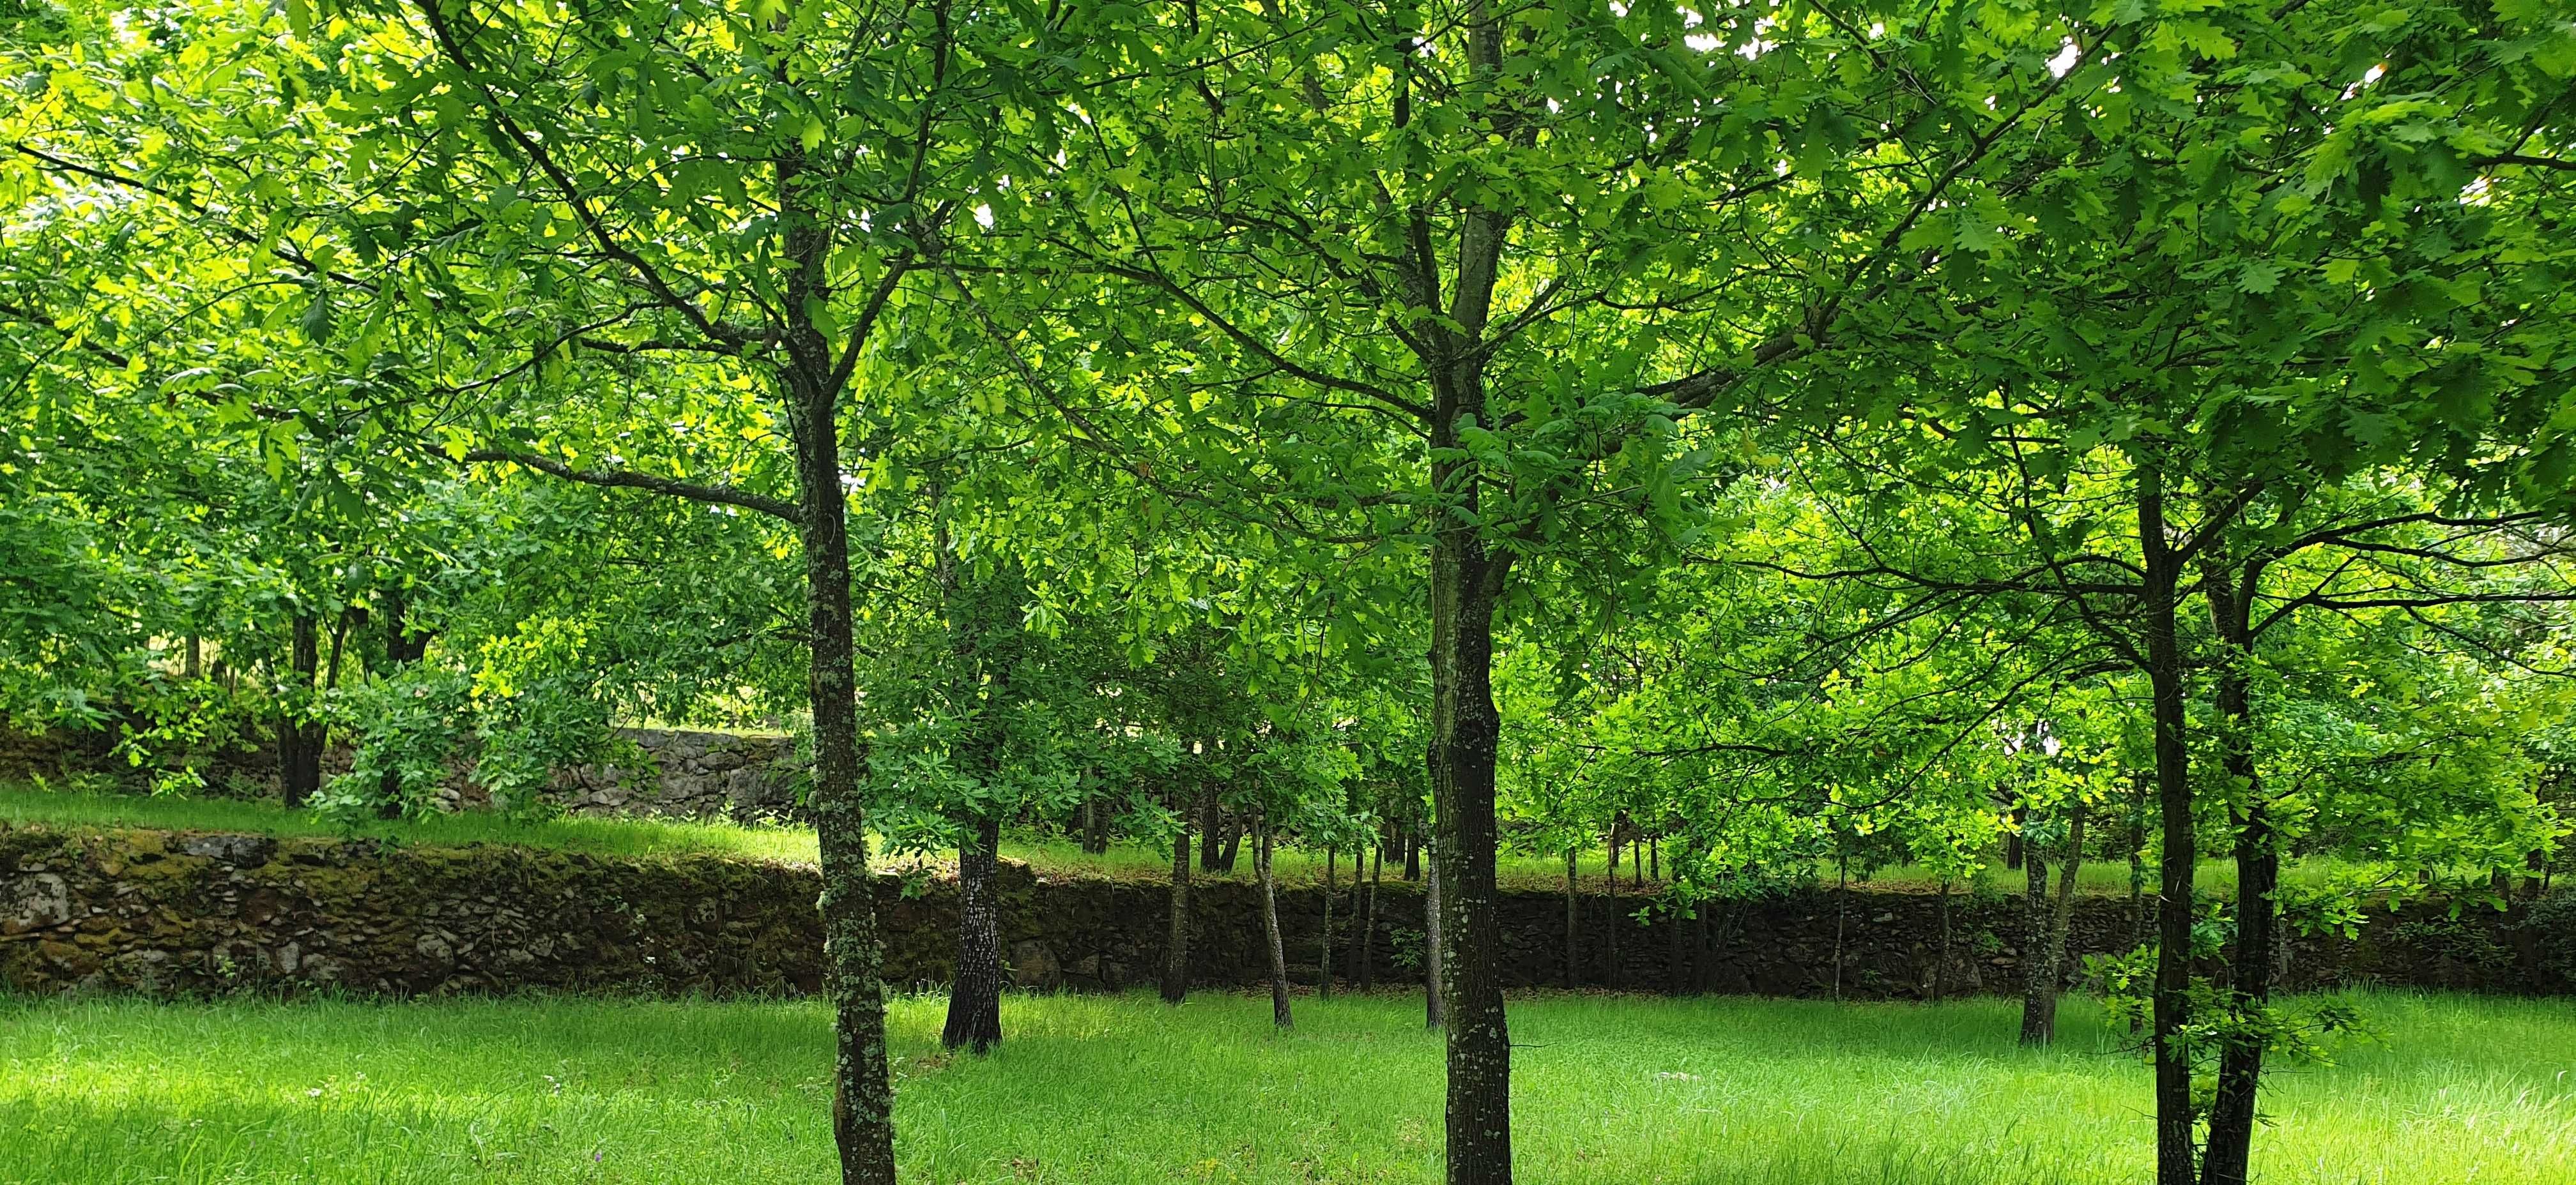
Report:
<svg viewBox="0 0 2576 1185"><path fill-rule="evenodd" d="M1005 863L1002 948L1028 989L1126 989L1162 966L1167 891L1154 881L1041 878ZM804 994L822 987L822 881L809 866L737 858L605 858L528 848L397 848L371 840L155 830L0 827L0 987L15 992L309 992L456 994L513 989ZM956 884L878 876L886 979L940 987L953 969ZM1247 884L1200 884L1193 971L1200 984L1267 976L1260 899ZM1358 974L1355 902L1334 899L1337 971ZM1829 891L1638 925L1638 899L1584 899L1582 987L1917 1000L2012 992L2017 909L1927 894ZM1280 899L1291 974L1319 976L1324 894ZM1839 925L1837 925L1839 917ZM1564 981L1564 896L1502 894L1504 981ZM2568 992L2576 896L2512 912L2411 909L2362 940L2303 943L2295 984L2416 984ZM1422 894L1378 896L1378 981L1414 979ZM2128 943L2125 902L2084 899L2076 948ZM1615 951L1615 956L1613 956Z"/></svg>

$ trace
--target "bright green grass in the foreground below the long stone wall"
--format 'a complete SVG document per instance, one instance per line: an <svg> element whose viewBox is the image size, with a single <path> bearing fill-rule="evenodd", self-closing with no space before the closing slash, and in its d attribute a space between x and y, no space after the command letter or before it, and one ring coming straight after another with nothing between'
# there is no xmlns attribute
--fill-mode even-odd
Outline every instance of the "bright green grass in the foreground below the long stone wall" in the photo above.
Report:
<svg viewBox="0 0 2576 1185"><path fill-rule="evenodd" d="M2269 1085L2269 1185L2576 1180L2576 1015L2370 994L2385 1041ZM891 1005L914 1182L1435 1182L1419 1002L1007 997L989 1059ZM2148 1074L2069 1002L1515 1000L1520 1177L2130 1185ZM814 1002L0 1002L0 1182L829 1180Z"/></svg>

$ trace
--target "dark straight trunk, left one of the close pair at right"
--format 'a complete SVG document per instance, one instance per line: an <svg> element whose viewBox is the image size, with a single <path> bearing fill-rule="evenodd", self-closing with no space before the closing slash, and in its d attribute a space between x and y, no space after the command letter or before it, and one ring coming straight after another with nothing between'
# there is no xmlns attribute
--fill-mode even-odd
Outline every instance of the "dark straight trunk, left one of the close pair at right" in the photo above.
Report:
<svg viewBox="0 0 2576 1185"><path fill-rule="evenodd" d="M2182 1048L2192 1023L2192 768L2184 729L2182 639L2174 629L2179 562L2166 538L2164 482L2138 471L2138 544L2146 559L2141 618L2146 683L2156 724L2156 799L2164 811L2164 868L2156 884L2156 1185L2195 1185L2192 1061Z"/></svg>

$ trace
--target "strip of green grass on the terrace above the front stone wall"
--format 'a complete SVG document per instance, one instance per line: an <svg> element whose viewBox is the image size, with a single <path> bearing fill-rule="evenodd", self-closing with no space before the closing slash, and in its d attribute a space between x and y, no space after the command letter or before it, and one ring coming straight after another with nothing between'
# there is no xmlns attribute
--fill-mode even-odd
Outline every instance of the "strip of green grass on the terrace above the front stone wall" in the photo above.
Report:
<svg viewBox="0 0 2576 1185"><path fill-rule="evenodd" d="M461 811L425 819L366 819L335 822L312 811L289 811L273 801L247 799L188 799L147 793L64 791L57 786L0 783L0 824L57 824L57 827L160 827L196 832L252 832L252 835L332 835L368 837L386 842L415 842L456 848L471 842L510 842L528 848L556 848L600 855L734 855L752 860L814 863L814 832L804 827L747 827L732 822L680 822L680 819L616 819L616 817L554 817L513 819L507 814ZM1023 860L1043 876L1108 876L1121 881L1164 881L1172 876L1172 853L1159 845L1115 842L1108 853L1084 853L1061 835L1012 835L1002 840L1002 855ZM1577 884L1584 891L1602 891L1607 876L1605 853L1584 853ZM886 855L886 868L953 868L953 855ZM1324 884L1324 853L1283 845L1275 853L1280 884ZM1620 860L1618 891L1651 894L1659 878L1643 876ZM2293 860L2285 878L2293 884L2324 878L2334 866L2326 860ZM1203 878L1252 881L1252 853L1236 858L1234 871L1198 873ZM1350 853L1334 858L1334 884L1350 884ZM1388 881L1401 868L1383 868ZM2146 868L2146 891L2154 891L2154 863ZM1502 889L1564 891L1564 855L1502 853L1494 866ZM1832 886L1832 866L1816 868L1816 884ZM1855 876L1855 889L1937 891L1940 878L1914 868L1891 866L1870 876ZM2020 894L2022 873L1991 863L1978 873L1978 886L1996 894ZM2079 891L2128 894L2128 863L2089 860L2076 873ZM1968 891L1968 884L1953 886ZM2197 891L2231 894L2236 889L2233 860L2200 860ZM0 1182L5 1185L5 1182Z"/></svg>

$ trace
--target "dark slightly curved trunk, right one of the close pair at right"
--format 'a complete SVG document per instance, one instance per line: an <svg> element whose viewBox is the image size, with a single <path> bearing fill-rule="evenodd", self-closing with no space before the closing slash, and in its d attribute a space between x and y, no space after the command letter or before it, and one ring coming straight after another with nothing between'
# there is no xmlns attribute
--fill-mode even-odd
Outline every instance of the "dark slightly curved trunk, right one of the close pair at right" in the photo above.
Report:
<svg viewBox="0 0 2576 1185"><path fill-rule="evenodd" d="M2239 582L2241 580L2241 582ZM2280 848L2272 837L2272 811L2264 804L2262 770L2254 763L2254 621L2251 603L2262 564L2249 559L2241 572L2213 564L2210 621L2223 662L2218 665L2218 765L2233 788L2236 822L2236 940L2228 945L2228 1025L2218 1043L2218 1092L2210 1097L2210 1136L2202 1154L2202 1185L2246 1185L2254 1159L2254 1095L2262 1087L2264 1012L2272 1002L2272 969L2280 917Z"/></svg>

